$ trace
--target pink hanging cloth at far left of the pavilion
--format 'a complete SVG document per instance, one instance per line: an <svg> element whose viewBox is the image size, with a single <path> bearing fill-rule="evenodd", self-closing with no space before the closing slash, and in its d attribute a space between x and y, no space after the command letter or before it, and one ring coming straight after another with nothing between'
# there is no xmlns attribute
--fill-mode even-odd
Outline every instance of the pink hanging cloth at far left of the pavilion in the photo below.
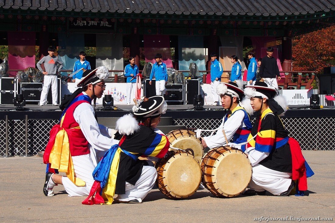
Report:
<svg viewBox="0 0 335 223"><path fill-rule="evenodd" d="M36 67L35 64L35 32L8 32L8 64L10 70L24 70ZM15 76L17 71L9 72Z"/></svg>

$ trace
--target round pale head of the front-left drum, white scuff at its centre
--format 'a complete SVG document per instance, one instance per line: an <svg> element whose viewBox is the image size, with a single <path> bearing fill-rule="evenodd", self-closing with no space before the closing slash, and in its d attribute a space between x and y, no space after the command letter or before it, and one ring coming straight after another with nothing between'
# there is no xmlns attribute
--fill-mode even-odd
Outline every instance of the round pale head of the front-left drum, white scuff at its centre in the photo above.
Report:
<svg viewBox="0 0 335 223"><path fill-rule="evenodd" d="M201 182L201 169L198 161L188 153L177 153L164 166L163 182L165 190L175 198L193 195Z"/></svg>

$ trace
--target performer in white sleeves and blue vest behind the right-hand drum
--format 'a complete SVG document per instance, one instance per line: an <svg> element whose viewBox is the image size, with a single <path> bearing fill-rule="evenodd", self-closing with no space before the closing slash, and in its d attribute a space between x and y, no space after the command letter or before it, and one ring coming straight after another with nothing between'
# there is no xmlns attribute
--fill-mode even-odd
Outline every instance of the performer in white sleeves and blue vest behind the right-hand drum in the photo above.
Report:
<svg viewBox="0 0 335 223"><path fill-rule="evenodd" d="M221 96L222 107L228 109L228 111L223 117L216 135L212 137L201 137L203 147L212 149L217 146L226 145L222 129L228 141L233 138L233 145L246 142L252 128L248 113L252 113L253 110L247 100L241 101L244 96L244 91L240 89L236 83L229 82L220 83L216 88L216 92ZM247 103L244 103L245 101L247 101ZM242 103L245 105L242 105Z"/></svg>

